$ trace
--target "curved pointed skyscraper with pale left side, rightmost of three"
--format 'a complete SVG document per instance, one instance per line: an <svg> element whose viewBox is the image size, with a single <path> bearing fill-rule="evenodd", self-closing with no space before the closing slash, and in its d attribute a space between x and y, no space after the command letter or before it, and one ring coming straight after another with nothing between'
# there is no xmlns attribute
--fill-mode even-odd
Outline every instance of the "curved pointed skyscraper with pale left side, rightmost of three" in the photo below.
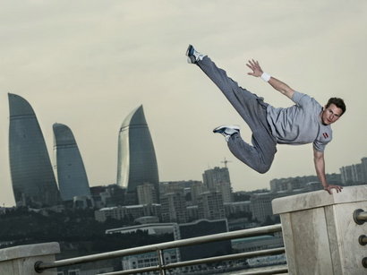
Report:
<svg viewBox="0 0 367 275"><path fill-rule="evenodd" d="M124 119L118 135L117 185L137 202L136 188L154 185L158 197L158 165L142 105Z"/></svg>

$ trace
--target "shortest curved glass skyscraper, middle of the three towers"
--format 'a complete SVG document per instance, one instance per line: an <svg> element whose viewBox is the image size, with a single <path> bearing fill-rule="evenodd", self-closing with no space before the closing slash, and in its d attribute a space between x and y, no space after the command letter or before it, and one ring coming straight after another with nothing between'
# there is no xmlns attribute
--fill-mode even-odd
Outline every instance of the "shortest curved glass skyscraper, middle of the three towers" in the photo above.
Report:
<svg viewBox="0 0 367 275"><path fill-rule="evenodd" d="M72 130L62 124L54 124L54 155L57 182L63 201L75 196L90 196L90 185L83 160Z"/></svg>

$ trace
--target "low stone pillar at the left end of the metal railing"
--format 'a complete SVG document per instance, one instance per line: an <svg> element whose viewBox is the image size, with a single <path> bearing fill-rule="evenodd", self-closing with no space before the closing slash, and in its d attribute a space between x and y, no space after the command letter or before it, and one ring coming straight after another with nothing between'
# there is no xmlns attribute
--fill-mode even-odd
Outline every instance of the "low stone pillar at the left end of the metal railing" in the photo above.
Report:
<svg viewBox="0 0 367 275"><path fill-rule="evenodd" d="M55 254L60 253L58 243L20 245L0 250L0 274L36 275L34 264L38 261L54 262ZM55 269L42 272L43 275L55 275Z"/></svg>

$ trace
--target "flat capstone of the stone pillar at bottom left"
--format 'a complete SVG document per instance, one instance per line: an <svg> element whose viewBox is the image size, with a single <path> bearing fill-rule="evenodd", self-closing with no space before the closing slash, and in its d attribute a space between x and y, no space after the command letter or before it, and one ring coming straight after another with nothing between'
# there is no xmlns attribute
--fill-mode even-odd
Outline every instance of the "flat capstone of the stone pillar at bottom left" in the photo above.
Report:
<svg viewBox="0 0 367 275"><path fill-rule="evenodd" d="M0 262L59 253L58 243L13 246L0 250Z"/></svg>

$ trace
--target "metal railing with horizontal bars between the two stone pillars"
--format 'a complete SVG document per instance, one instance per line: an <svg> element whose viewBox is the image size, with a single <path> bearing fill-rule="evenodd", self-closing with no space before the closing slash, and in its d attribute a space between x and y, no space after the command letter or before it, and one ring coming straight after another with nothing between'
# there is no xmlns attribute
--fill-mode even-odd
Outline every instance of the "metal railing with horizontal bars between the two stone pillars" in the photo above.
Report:
<svg viewBox="0 0 367 275"><path fill-rule="evenodd" d="M214 234L209 236L197 236L182 240L175 240L171 242L155 244L155 245L144 245L140 247L133 247L124 250L117 250L113 252L107 252L103 254L92 254L88 256L81 256L71 259L64 259L55 262L36 262L34 265L35 271L38 273L42 273L48 269L53 269L62 266L73 265L77 263L85 263L85 262L96 262L101 260L112 259L116 257L123 257L133 254L144 254L149 252L156 252L158 254L158 265L157 266L150 266L145 268L133 269L128 271L115 271L110 273L104 273L104 275L116 275L116 274L134 274L134 273L141 273L141 272L148 272L148 271L160 271L160 274L165 275L166 270L184 267L184 266L191 266L196 264L202 263L209 263L209 262L220 262L220 261L227 261L227 260L235 260L240 258L249 258L255 256L262 256L262 255L269 255L269 254L284 254L285 249L284 247L275 248L275 249L268 249L262 251L256 251L251 253L241 253L241 254L228 254L223 256L211 257L211 258L204 258L186 262L174 262L174 263L165 263L163 257L163 250L169 248L178 248L182 246L188 245L200 245L209 242L215 241L224 241L229 239L235 239L240 237L249 237L249 236L260 236L269 233L280 232L282 227L280 224L274 226L267 226L261 228L250 228L250 229L243 229L243 230L236 230L226 233ZM274 269L272 270L271 274L286 272L286 268ZM252 273L253 274L253 273ZM269 271L264 272L257 272L256 274L270 274Z"/></svg>

